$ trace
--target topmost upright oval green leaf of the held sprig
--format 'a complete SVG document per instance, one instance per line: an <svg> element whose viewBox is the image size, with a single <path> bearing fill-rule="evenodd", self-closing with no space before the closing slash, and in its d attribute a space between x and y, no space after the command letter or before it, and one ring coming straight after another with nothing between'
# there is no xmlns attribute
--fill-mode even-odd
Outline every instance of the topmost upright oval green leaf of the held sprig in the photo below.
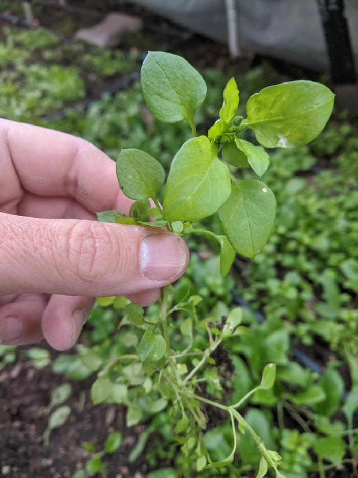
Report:
<svg viewBox="0 0 358 478"><path fill-rule="evenodd" d="M149 52L141 69L141 87L149 110L164 123L185 119L194 124L194 113L206 96L198 71L180 56Z"/></svg>

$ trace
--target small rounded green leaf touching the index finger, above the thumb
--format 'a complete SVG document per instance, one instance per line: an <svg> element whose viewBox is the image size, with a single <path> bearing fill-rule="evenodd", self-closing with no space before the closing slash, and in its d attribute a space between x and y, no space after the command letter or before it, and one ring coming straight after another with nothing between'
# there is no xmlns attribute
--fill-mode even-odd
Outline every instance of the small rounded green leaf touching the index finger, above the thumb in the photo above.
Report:
<svg viewBox="0 0 358 478"><path fill-rule="evenodd" d="M136 149L120 152L116 173L123 193L135 200L155 198L165 179L162 165L150 154Z"/></svg>

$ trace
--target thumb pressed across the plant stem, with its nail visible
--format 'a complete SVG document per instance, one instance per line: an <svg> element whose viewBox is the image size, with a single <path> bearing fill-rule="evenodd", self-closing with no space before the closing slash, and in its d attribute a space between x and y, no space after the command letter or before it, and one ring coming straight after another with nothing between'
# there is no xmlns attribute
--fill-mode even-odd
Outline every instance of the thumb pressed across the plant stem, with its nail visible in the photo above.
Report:
<svg viewBox="0 0 358 478"><path fill-rule="evenodd" d="M0 213L0 295L128 295L163 287L188 264L180 237L134 225Z"/></svg>

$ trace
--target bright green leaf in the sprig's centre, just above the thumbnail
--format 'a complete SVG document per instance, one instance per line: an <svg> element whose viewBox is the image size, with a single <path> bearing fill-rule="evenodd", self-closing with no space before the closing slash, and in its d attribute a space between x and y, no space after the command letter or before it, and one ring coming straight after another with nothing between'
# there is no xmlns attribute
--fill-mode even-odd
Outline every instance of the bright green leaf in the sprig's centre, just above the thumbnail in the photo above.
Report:
<svg viewBox="0 0 358 478"><path fill-rule="evenodd" d="M164 217L197 221L214 214L231 192L230 171L206 136L186 141L171 164L164 191Z"/></svg>

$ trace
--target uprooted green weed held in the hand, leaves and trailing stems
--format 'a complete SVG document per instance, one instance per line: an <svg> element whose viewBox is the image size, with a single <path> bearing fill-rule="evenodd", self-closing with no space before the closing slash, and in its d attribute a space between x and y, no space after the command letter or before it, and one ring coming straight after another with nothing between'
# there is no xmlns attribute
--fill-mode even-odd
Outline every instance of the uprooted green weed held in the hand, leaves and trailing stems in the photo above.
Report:
<svg viewBox="0 0 358 478"><path fill-rule="evenodd" d="M137 224L151 227L165 227L180 236L206 234L214 237L221 247L220 272L225 276L234 261L235 253L253 259L264 247L269 238L276 214L276 200L269 186L261 180L242 180L241 169L252 168L261 178L270 164L265 148L293 148L314 139L324 128L333 108L334 95L324 85L312 81L294 81L264 88L249 98L246 104L247 117L237 116L239 89L231 78L223 91L223 104L219 118L209 129L207 135L197 136L194 115L206 96L206 84L202 76L183 58L163 52L150 52L141 70L141 87L149 110L160 121L174 123L185 120L189 123L193 138L186 141L176 153L170 167L167 181L162 165L148 153L137 150L122 150L117 160L117 176L123 193L133 199L129 216L120 211L105 211L98 214L103 222L118 224ZM252 130L257 144L244 139L244 131ZM164 186L163 207L158 193ZM153 201L155 207L149 202ZM223 235L210 230L195 228L193 223L218 213ZM153 219L150 222L150 217ZM120 298L101 299L121 301ZM188 456L195 450L196 468L225 467L234 460L237 430L249 432L261 453L258 478L265 476L272 467L277 477L281 457L267 450L249 423L237 411L247 398L257 390L271 388L275 380L275 365L268 364L263 370L261 383L233 405L222 405L200 396L197 383L207 380L203 377L203 366L223 340L248 334L239 325L240 309L229 314L222 330L204 320L200 322L208 334L205 350L192 351L192 320L188 317L180 326L183 337L190 343L180 354L172 351L168 333L169 318L177 310L190 310L196 314L198 296L183 299L172 306L173 288L163 289L161 312L158 321L148 322L144 311L138 305L127 305L126 323L132 323L143 331L142 339L133 348L138 355L131 364L120 365L122 377L136 377L143 384L145 393L156 390L161 395L151 403L151 410L158 412L168 403L180 413L181 418L175 428L177 442ZM122 304L125 307L126 304ZM193 355L194 358L190 357ZM196 357L195 357L196 356ZM178 357L191 360L188 371L187 362L178 362ZM141 362L146 365L141 366ZM128 390L123 383L113 384L110 379L114 361L100 372L92 388L95 403L114 398L114 387L121 389L118 403L128 406L127 424L136 424L142 418L139 405L128 400ZM130 371L129 371L129 368ZM153 375L154 373L154 375ZM198 375L202 377L198 379ZM146 383L145 374L150 380ZM142 380L143 379L143 380ZM219 381L210 378L219 390ZM155 383L155 386L153 384ZM116 399L115 399L116 401ZM200 409L200 402L225 410L230 418L233 432L233 449L226 459L213 463L202 441L202 430L206 419ZM186 433L186 436L183 433Z"/></svg>

